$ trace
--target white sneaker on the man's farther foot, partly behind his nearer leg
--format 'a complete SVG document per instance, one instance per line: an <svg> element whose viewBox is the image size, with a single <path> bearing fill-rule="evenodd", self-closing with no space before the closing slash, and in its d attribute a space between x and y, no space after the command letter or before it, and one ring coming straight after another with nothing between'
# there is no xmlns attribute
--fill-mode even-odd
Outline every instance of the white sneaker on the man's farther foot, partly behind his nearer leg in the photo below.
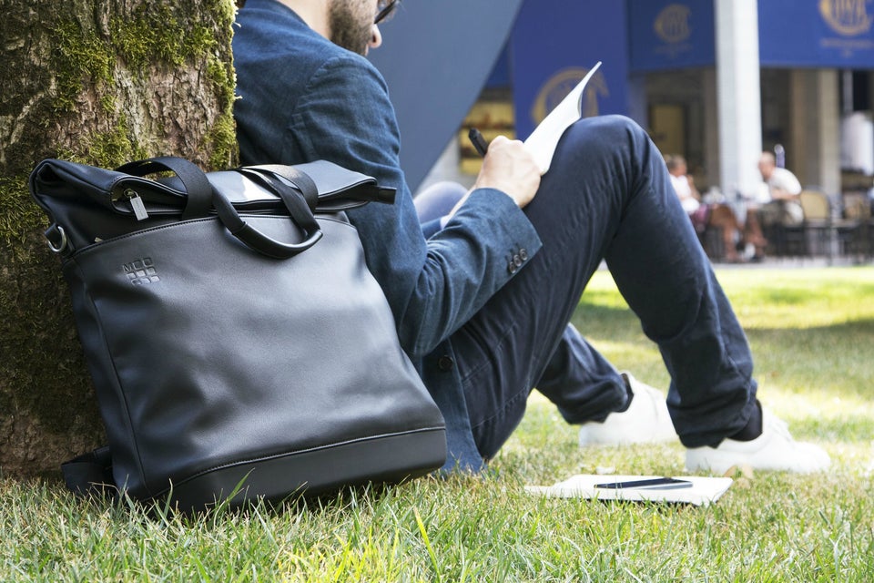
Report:
<svg viewBox="0 0 874 583"><path fill-rule="evenodd" d="M676 439L674 424L667 413L665 395L622 373L634 397L625 411L611 413L601 422L580 427L580 447L585 445L655 444Z"/></svg>

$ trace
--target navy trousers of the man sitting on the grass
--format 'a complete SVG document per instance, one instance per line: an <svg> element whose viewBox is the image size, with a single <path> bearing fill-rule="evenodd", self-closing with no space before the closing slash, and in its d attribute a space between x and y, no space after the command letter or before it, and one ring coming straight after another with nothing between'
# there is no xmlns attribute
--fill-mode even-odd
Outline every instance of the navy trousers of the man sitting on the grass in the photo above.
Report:
<svg viewBox="0 0 874 583"><path fill-rule="evenodd" d="M535 385L571 421L585 420L599 378L615 391L613 367L567 327L602 260L662 354L681 442L716 445L747 424L757 391L747 338L642 128L619 116L574 123L524 211L543 249L452 337L484 458ZM574 375L581 383L562 382Z"/></svg>

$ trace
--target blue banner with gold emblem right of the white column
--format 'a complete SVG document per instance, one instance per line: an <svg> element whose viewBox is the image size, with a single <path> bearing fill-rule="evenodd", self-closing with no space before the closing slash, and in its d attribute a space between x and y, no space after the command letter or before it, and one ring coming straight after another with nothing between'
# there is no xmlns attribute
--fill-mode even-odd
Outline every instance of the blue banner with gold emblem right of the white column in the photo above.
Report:
<svg viewBox="0 0 874 583"><path fill-rule="evenodd" d="M759 0L762 66L874 68L874 0Z"/></svg>

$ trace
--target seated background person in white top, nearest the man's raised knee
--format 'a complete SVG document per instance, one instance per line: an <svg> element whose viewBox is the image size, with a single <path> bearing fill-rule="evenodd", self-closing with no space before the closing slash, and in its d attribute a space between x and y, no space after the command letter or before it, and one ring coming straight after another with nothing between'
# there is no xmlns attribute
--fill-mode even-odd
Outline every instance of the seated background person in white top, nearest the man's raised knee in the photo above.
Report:
<svg viewBox="0 0 874 583"><path fill-rule="evenodd" d="M695 188L695 181L686 173L686 159L682 156L676 154L667 155L665 162L671 177L671 184L676 191L676 196L679 197L683 210L686 210L686 214L692 220L695 230L700 234L707 227L721 229L726 261L732 263L741 261L741 257L737 254L737 238L742 236L744 227L737 220L735 211L725 204L701 203L701 195ZM759 251L759 247L764 247L764 240L761 234L751 236L749 240L757 246L757 251Z"/></svg>

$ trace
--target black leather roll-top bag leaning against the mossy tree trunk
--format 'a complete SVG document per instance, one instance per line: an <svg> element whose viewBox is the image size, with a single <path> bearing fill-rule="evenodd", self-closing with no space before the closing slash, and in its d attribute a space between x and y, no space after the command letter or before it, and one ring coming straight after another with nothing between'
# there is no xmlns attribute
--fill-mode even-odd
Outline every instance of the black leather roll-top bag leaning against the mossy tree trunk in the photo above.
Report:
<svg viewBox="0 0 874 583"><path fill-rule="evenodd" d="M198 509L445 461L442 415L343 212L393 189L329 162L205 174L176 158L47 159L30 189L109 442L65 466L68 486L111 463L130 496Z"/></svg>

